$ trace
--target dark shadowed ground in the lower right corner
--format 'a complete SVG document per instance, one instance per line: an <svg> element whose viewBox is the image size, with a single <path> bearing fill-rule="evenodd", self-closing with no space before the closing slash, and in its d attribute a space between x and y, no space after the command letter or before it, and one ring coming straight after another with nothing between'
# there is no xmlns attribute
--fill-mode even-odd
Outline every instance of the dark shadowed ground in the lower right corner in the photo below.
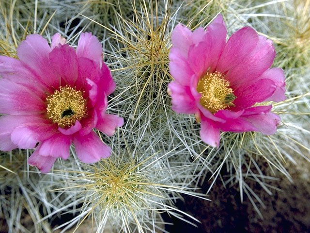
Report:
<svg viewBox="0 0 310 233"><path fill-rule="evenodd" d="M269 168L265 166L266 172ZM304 162L300 166L288 164L287 169L294 183L291 183L281 173L273 174L278 181L267 182L281 190L271 189L273 195L267 194L254 181L248 185L263 201L265 208L258 205L263 219L255 211L246 195L240 201L239 187L223 187L220 179L214 184L208 198L212 201L184 196L176 206L186 213L196 217L202 223L198 227L191 226L175 217L164 214L170 233L309 233L310 232L310 165ZM225 175L225 168L222 175ZM272 175L272 174L270 174ZM202 186L202 193L208 190L208 183ZM189 220L189 218L186 218ZM191 220L191 222L193 222Z"/></svg>

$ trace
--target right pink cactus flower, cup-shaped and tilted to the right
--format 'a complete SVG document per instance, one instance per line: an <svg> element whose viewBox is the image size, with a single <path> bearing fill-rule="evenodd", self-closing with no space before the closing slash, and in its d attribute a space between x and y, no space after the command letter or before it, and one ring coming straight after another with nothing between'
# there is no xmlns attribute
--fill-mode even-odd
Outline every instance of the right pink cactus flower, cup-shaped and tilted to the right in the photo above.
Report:
<svg viewBox="0 0 310 233"><path fill-rule="evenodd" d="M279 116L263 101L285 100L285 76L269 68L275 58L272 41L245 27L226 42L221 15L204 30L178 24L172 32L168 86L172 109L195 114L202 141L219 147L220 131L276 133Z"/></svg>

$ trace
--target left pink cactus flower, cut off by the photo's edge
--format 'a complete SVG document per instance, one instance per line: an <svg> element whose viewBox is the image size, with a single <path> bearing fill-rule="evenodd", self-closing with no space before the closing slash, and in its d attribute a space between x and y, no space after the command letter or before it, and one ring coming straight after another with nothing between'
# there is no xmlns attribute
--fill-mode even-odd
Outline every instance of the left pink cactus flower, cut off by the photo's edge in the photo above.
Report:
<svg viewBox="0 0 310 233"><path fill-rule="evenodd" d="M106 113L116 84L102 52L92 33L80 35L77 50L56 33L51 47L31 34L17 48L19 60L0 56L0 150L35 148L28 163L42 173L67 159L72 143L84 163L110 156L93 128L111 136L124 119Z"/></svg>

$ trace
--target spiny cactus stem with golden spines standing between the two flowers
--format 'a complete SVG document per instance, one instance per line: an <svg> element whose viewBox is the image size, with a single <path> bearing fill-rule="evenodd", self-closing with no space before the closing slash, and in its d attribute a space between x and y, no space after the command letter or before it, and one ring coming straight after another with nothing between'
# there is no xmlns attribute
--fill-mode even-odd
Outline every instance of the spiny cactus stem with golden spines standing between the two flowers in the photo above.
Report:
<svg viewBox="0 0 310 233"><path fill-rule="evenodd" d="M124 96L132 103L126 110L130 119L134 119L140 129L143 124L155 132L159 118L168 116L161 113L170 110L167 107L170 103L167 85L171 81L168 55L175 15L171 13L170 0L141 0L131 7L133 13L129 18L122 17L123 9L119 9L121 13L114 26L113 31L117 32L114 36L119 46L124 47L116 51L115 64L119 61L124 64L120 73L124 70Z"/></svg>

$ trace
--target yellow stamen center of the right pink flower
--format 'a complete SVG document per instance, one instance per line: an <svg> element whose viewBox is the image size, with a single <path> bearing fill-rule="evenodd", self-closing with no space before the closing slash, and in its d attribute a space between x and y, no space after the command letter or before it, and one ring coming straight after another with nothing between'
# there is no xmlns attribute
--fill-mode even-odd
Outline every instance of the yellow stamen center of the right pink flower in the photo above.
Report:
<svg viewBox="0 0 310 233"><path fill-rule="evenodd" d="M206 73L197 85L197 91L202 94L200 104L211 113L235 106L232 102L236 99L229 81L218 72Z"/></svg>

